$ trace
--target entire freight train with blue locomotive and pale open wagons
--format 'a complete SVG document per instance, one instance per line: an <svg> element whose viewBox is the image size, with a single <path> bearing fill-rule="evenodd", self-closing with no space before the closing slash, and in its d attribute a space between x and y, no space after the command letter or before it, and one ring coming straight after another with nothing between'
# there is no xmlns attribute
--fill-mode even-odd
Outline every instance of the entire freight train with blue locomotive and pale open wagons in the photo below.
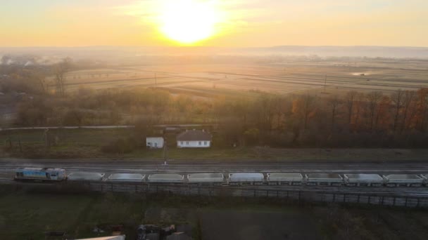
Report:
<svg viewBox="0 0 428 240"><path fill-rule="evenodd" d="M422 187L428 186L428 174L339 174L339 173L105 173L73 172L62 168L18 168L15 180L27 181L106 181L141 184L188 185L315 185L356 187Z"/></svg>

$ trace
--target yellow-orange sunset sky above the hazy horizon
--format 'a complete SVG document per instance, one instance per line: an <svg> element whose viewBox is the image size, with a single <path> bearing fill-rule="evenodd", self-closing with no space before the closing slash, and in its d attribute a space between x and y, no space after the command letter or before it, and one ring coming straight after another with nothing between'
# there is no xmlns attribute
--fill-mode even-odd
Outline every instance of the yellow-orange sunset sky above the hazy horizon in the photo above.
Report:
<svg viewBox="0 0 428 240"><path fill-rule="evenodd" d="M0 46L175 45L428 46L428 1L0 0Z"/></svg>

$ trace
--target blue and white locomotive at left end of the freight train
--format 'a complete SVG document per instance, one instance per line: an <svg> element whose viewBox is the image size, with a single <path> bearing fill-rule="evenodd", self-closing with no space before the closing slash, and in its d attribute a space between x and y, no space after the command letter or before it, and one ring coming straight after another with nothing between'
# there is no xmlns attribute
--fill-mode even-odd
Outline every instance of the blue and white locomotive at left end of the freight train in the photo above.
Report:
<svg viewBox="0 0 428 240"><path fill-rule="evenodd" d="M18 168L15 180L62 181L67 178L63 168Z"/></svg>

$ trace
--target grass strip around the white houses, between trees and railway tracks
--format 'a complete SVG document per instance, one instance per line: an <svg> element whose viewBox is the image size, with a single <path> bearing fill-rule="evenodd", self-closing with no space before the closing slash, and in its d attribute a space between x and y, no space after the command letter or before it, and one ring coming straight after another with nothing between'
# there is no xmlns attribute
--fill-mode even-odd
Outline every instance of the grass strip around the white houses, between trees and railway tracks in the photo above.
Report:
<svg viewBox="0 0 428 240"><path fill-rule="evenodd" d="M163 149L146 149L141 136L133 129L59 129L51 130L57 145L47 148L43 130L4 131L0 133L0 156L22 158L103 158L103 159L163 159ZM118 138L132 138L137 147L127 154L106 154L101 147ZM12 141L9 149L8 139ZM168 159L185 160L245 160L245 159L426 159L428 149L320 149L270 147L213 147L209 149L168 148ZM19 142L21 147L19 147ZM22 152L20 151L22 149Z"/></svg>

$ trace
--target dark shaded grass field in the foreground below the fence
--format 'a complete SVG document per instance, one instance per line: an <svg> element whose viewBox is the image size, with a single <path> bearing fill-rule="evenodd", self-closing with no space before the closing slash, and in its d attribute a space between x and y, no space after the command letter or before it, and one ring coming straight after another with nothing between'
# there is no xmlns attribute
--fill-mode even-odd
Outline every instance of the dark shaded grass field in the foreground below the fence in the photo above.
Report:
<svg viewBox="0 0 428 240"><path fill-rule="evenodd" d="M127 239L134 239L140 224L188 225L195 240L395 240L425 239L428 234L428 212L420 209L298 206L264 199L46 194L37 189L0 185L1 239L44 239L46 231L66 231L70 238L102 236L92 229L109 225L124 225Z"/></svg>

